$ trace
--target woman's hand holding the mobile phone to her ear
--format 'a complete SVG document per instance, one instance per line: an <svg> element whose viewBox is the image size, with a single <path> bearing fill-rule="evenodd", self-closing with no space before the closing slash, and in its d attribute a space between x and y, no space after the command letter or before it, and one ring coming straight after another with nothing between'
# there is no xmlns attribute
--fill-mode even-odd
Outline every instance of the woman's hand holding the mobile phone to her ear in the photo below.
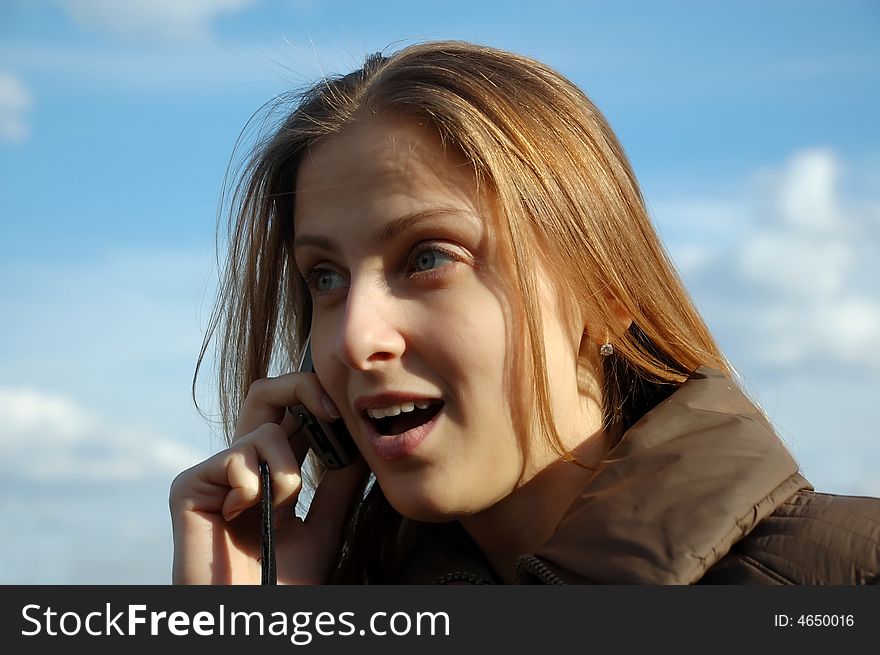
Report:
<svg viewBox="0 0 880 655"><path fill-rule="evenodd" d="M175 478L169 498L175 584L260 584L261 460L272 476L278 583L327 581L367 467L358 457L345 468L327 470L308 516L295 516L300 464L308 449L304 431L287 412L297 404L325 421L335 419L331 412L338 414L313 373L257 380L232 445Z"/></svg>

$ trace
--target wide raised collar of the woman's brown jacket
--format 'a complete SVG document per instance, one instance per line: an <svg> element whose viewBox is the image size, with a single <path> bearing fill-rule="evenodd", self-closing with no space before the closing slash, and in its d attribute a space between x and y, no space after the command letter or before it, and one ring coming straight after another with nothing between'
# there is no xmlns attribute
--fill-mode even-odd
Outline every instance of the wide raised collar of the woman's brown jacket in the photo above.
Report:
<svg viewBox="0 0 880 655"><path fill-rule="evenodd" d="M695 371L633 425L554 535L518 561L522 582L689 584L800 489L797 463L725 374ZM404 521L397 581L459 571L497 581L458 525Z"/></svg>

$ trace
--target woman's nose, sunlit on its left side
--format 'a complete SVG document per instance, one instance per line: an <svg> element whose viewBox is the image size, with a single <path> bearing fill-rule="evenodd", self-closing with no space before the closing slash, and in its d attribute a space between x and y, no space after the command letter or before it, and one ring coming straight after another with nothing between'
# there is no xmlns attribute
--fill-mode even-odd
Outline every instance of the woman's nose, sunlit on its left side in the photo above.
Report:
<svg viewBox="0 0 880 655"><path fill-rule="evenodd" d="M370 371L403 355L401 303L386 285L363 278L352 281L336 344L346 366Z"/></svg>

